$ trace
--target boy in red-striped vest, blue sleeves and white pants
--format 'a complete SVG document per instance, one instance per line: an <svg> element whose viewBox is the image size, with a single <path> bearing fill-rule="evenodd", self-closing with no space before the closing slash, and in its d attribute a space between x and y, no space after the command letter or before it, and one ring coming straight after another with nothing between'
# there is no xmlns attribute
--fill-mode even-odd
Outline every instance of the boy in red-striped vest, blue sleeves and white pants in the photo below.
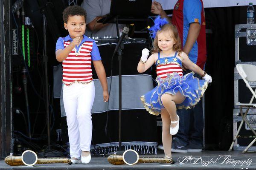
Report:
<svg viewBox="0 0 256 170"><path fill-rule="evenodd" d="M92 138L91 109L94 100L95 71L103 88L103 98L108 102L108 84L99 49L94 40L84 35L86 12L80 6L69 6L63 11L64 28L69 35L56 43L56 59L63 66L63 101L67 115L70 157L73 164L90 162Z"/></svg>

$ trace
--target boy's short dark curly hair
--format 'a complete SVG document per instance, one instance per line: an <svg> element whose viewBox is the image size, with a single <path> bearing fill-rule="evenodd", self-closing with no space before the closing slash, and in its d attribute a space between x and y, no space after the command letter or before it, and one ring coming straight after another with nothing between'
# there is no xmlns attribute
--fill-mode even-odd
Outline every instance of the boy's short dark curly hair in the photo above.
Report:
<svg viewBox="0 0 256 170"><path fill-rule="evenodd" d="M68 6L67 8L64 9L62 14L63 14L64 23L67 23L67 19L69 16L75 16L75 15L84 16L84 20L86 22L87 14L84 8L82 8L81 6Z"/></svg>

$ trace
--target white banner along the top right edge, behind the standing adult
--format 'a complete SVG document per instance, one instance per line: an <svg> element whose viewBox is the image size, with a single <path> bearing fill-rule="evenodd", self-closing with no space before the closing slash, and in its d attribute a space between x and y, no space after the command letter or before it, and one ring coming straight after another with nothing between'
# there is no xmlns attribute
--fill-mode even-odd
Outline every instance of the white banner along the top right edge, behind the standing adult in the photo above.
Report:
<svg viewBox="0 0 256 170"><path fill-rule="evenodd" d="M156 0L161 3L164 10L173 9L177 0ZM227 7L227 6L248 6L249 3L256 5L256 0L203 0L204 8Z"/></svg>

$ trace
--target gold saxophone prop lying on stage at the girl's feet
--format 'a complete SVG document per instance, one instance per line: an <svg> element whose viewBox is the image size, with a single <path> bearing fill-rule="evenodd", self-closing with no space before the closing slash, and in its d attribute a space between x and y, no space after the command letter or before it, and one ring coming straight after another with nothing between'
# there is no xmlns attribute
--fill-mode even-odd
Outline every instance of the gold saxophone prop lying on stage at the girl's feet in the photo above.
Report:
<svg viewBox="0 0 256 170"><path fill-rule="evenodd" d="M137 155L137 160L133 161L133 162L128 162L125 160L125 153L132 151L134 153L136 153ZM166 164L174 164L175 161L173 161L170 158L139 158L138 153L135 150L126 150L125 153L123 153L123 155L110 155L108 156L108 162L114 165L121 165L121 164L128 164L128 165L133 165L133 164L137 164L137 163L166 163ZM135 157L136 157L135 155Z"/></svg>

